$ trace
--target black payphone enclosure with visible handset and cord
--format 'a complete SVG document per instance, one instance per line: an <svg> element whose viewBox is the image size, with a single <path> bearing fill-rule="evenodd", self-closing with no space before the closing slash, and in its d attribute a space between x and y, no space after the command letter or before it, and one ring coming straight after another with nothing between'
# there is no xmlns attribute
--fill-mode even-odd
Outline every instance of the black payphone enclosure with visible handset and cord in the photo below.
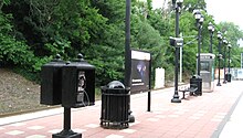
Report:
<svg viewBox="0 0 243 138"><path fill-rule="evenodd" d="M76 108L95 104L95 67L78 54L62 68L62 106Z"/></svg>

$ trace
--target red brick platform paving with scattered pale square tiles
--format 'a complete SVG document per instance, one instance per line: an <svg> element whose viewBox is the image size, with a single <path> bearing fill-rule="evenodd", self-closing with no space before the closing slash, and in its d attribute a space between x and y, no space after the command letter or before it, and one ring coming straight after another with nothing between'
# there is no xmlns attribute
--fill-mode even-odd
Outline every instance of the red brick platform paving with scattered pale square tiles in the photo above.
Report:
<svg viewBox="0 0 243 138"><path fill-rule="evenodd" d="M190 96L180 104L170 103L173 88L151 93L151 112L147 93L131 96L136 118L129 128L99 127L101 102L72 112L72 129L83 138L210 138L241 95L242 82L215 86L213 93ZM62 130L63 114L0 126L0 138L50 138Z"/></svg>

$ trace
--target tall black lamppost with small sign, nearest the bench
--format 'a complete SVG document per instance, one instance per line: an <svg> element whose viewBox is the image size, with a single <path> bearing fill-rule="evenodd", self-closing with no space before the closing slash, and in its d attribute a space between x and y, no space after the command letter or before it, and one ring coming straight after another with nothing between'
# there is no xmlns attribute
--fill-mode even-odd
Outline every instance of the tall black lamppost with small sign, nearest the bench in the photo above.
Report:
<svg viewBox="0 0 243 138"><path fill-rule="evenodd" d="M176 38L179 38L179 18L180 18L180 10L182 7L183 0L172 0L172 7L176 11ZM179 47L176 46L176 59L175 59L175 94L171 103L181 103L181 99L178 95L178 63L179 60Z"/></svg>

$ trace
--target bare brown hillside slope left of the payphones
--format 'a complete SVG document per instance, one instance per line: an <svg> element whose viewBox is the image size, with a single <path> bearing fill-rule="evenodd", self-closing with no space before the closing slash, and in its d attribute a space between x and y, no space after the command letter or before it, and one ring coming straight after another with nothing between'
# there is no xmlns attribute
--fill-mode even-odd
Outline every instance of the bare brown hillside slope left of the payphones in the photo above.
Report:
<svg viewBox="0 0 243 138"><path fill-rule="evenodd" d="M46 108L40 105L40 85L0 68L0 117Z"/></svg>

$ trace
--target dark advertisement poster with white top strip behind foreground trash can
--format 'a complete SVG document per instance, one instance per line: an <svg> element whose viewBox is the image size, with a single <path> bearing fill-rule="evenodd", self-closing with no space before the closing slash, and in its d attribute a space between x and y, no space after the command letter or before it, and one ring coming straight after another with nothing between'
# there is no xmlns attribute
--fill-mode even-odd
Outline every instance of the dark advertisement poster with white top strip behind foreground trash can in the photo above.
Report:
<svg viewBox="0 0 243 138"><path fill-rule="evenodd" d="M131 51L131 93L148 92L151 56L148 52Z"/></svg>

